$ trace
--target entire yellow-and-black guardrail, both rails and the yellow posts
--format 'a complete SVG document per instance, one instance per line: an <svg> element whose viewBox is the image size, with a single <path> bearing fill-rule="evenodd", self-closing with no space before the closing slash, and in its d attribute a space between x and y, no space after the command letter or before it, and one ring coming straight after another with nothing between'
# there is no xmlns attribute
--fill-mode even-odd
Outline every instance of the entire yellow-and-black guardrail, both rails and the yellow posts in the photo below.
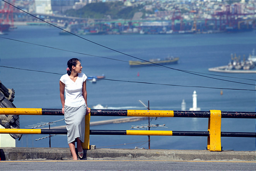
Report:
<svg viewBox="0 0 256 171"><path fill-rule="evenodd" d="M0 115L63 115L61 109L43 108L0 108ZM161 131L161 130L90 130L90 116L125 117L199 117L208 118L207 132ZM207 149L221 151L220 137L256 137L254 132L221 132L221 118L256 119L256 112L174 111L174 110L91 110L85 116L85 142L83 149L89 149L90 135L166 135L207 136ZM67 130L43 129L0 129L0 134L67 134Z"/></svg>

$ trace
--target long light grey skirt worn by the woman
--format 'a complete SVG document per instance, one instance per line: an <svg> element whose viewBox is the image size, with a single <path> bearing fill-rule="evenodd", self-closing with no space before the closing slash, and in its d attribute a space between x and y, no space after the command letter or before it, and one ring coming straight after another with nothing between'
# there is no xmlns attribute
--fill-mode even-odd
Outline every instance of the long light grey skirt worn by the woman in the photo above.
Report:
<svg viewBox="0 0 256 171"><path fill-rule="evenodd" d="M68 130L68 144L79 138L84 142L86 104L80 107L64 106L64 117Z"/></svg>

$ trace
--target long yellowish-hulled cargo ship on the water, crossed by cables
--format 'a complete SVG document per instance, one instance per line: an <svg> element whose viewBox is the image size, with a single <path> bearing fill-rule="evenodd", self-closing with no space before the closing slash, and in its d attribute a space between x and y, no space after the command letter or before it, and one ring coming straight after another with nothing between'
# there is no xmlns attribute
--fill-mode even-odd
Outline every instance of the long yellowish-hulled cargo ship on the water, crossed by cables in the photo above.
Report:
<svg viewBox="0 0 256 171"><path fill-rule="evenodd" d="M167 57L165 59L150 59L149 61L129 61L130 67L140 67L140 66L154 66L154 65L168 65L177 64L179 57Z"/></svg>

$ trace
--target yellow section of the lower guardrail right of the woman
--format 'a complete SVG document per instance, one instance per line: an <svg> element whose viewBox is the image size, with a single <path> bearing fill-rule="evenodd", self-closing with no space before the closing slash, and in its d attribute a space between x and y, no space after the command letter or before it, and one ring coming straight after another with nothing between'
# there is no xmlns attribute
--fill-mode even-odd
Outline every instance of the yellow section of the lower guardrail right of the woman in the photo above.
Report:
<svg viewBox="0 0 256 171"><path fill-rule="evenodd" d="M172 136L171 130L126 130L126 135L165 135Z"/></svg>

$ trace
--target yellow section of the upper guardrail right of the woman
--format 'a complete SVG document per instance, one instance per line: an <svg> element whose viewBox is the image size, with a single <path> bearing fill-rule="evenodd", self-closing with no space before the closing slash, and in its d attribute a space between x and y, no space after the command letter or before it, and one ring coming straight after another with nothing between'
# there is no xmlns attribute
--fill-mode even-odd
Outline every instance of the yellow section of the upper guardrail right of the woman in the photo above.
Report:
<svg viewBox="0 0 256 171"><path fill-rule="evenodd" d="M127 110L130 117L174 117L173 110Z"/></svg>

